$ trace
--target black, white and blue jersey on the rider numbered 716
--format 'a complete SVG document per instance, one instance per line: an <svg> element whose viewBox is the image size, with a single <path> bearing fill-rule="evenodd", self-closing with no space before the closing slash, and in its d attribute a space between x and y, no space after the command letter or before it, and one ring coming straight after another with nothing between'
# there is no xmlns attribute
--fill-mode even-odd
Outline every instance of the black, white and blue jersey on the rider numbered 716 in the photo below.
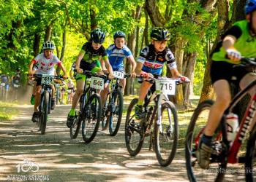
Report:
<svg viewBox="0 0 256 182"><path fill-rule="evenodd" d="M162 52L156 52L153 44L149 44L140 51L138 62L143 63L142 71L154 75L162 74L165 62L170 70L177 68L173 52L167 47Z"/></svg>

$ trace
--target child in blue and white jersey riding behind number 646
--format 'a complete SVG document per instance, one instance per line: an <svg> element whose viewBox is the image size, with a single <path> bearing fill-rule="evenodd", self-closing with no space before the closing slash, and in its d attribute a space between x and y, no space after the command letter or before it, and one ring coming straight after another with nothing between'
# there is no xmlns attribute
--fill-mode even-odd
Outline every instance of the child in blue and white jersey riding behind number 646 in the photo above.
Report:
<svg viewBox="0 0 256 182"><path fill-rule="evenodd" d="M114 33L114 44L111 44L107 49L108 59L110 61L110 65L113 68L113 71L124 72L124 58L127 58L132 65L132 77L135 77L135 68L136 62L135 58L133 58L132 52L125 45L126 35L122 31L116 31ZM102 63L103 70L105 70L104 63ZM120 80L121 87L124 88L126 84L126 79ZM105 103L106 97L109 92L108 83L105 84L105 89L101 92L102 102Z"/></svg>

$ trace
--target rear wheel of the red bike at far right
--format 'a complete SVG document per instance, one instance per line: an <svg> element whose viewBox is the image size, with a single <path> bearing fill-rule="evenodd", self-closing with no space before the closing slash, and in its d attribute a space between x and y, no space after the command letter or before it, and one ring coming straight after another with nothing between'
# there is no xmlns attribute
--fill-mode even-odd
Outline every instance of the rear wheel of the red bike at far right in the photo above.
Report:
<svg viewBox="0 0 256 182"><path fill-rule="evenodd" d="M210 178L212 181L223 181L225 173L223 171L227 168L227 162L221 162L220 164L217 164L217 162L211 163L210 168L208 170L203 170L198 166L198 169L195 169L196 162L192 162L192 157L196 157L195 152L197 151L197 144L198 141L196 141L200 136L203 134L203 128L206 126L206 122L199 122L200 120L200 114L204 111L209 111L211 106L214 104L213 100L205 100L202 103L199 103L197 108L195 108L194 113L192 114L191 120L189 122L189 127L187 129L187 137L185 142L185 158L186 158L186 168L187 168L187 176L189 178L189 181L195 182L195 181L206 181L206 175L207 178ZM208 115L206 119L208 118ZM198 124L198 127L196 126ZM199 128L199 130L197 130ZM199 133L196 133L194 135L194 132L199 131ZM194 138L196 137L196 138ZM195 140L194 140L195 139ZM211 167L214 165L214 167ZM208 172L208 173L206 173ZM212 173L209 173L212 172ZM203 179L200 177L196 177L196 175L203 175ZM217 175L215 178L214 175Z"/></svg>

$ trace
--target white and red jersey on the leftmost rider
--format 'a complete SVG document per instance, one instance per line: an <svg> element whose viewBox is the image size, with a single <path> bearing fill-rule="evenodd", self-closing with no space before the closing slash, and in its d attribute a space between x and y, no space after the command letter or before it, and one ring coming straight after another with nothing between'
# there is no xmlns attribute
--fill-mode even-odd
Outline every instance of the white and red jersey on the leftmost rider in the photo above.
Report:
<svg viewBox="0 0 256 182"><path fill-rule="evenodd" d="M34 64L37 64L38 68L36 73L37 74L49 74L54 75L54 66L58 64L58 66L61 64L61 61L59 58L57 58L56 55L51 55L51 57L45 58L44 53L41 53L37 55L36 58L33 60Z"/></svg>

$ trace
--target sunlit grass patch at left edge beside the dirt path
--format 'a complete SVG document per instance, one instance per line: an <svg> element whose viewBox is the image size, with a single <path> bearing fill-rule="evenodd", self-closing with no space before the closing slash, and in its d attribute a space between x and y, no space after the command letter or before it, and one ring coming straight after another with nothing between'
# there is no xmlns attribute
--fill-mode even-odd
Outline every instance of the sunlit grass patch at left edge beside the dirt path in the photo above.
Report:
<svg viewBox="0 0 256 182"><path fill-rule="evenodd" d="M13 108L14 106L12 103L0 102L0 121L10 120L18 114L18 109Z"/></svg>

